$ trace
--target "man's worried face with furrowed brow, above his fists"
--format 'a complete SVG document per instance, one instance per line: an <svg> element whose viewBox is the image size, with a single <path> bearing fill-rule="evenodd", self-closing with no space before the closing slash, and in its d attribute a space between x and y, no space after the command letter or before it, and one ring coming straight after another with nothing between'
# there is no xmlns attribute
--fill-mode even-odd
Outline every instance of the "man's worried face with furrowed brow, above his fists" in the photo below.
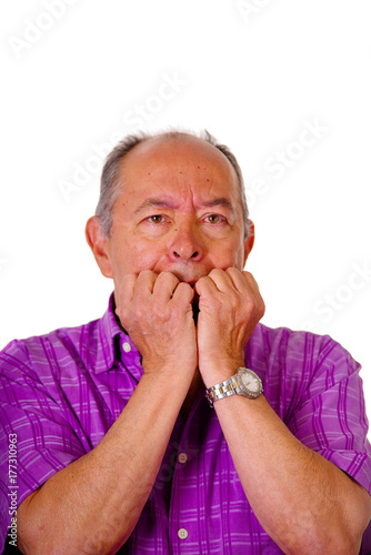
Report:
<svg viewBox="0 0 371 555"><path fill-rule="evenodd" d="M213 268L243 269L253 238L243 240L238 179L218 149L191 137L154 138L136 147L121 171L112 233L97 259L116 287L142 270L194 284Z"/></svg>

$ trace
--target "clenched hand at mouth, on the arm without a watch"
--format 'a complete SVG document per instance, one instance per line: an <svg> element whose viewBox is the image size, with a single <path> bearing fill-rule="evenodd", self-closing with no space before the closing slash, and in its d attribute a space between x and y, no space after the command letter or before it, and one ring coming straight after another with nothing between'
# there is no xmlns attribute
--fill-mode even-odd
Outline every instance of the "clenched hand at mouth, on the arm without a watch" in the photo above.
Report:
<svg viewBox="0 0 371 555"><path fill-rule="evenodd" d="M170 272L146 270L123 278L114 292L122 326L142 355L144 373L184 372L197 366L193 290Z"/></svg>

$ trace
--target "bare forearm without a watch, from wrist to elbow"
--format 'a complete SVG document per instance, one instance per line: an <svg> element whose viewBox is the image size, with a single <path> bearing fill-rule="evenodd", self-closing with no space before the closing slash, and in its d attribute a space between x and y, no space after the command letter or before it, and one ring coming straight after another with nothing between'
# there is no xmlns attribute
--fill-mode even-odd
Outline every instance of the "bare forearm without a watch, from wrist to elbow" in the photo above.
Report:
<svg viewBox="0 0 371 555"><path fill-rule="evenodd" d="M187 394L188 381L177 383L174 389L169 376L144 374L99 445L26 500L19 509L23 553L118 551L152 490Z"/></svg>

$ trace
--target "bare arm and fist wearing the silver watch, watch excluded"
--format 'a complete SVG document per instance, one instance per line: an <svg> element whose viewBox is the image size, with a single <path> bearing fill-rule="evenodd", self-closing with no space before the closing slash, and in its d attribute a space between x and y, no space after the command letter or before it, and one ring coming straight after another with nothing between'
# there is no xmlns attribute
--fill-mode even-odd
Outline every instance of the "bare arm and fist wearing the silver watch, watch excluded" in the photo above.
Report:
<svg viewBox="0 0 371 555"><path fill-rule="evenodd" d="M199 366L209 387L244 365L244 345L264 304L252 275L235 269L213 270L197 292ZM371 516L369 494L301 444L264 396L232 395L214 408L249 503L281 549L358 553Z"/></svg>

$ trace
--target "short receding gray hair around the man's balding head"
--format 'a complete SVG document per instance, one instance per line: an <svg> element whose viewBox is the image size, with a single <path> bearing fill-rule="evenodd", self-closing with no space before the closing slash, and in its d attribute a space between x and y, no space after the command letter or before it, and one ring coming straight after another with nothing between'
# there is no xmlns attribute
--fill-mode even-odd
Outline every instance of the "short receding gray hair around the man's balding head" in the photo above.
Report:
<svg viewBox="0 0 371 555"><path fill-rule="evenodd" d="M121 175L121 161L123 158L134 148L143 141L153 139L154 137L163 137L164 139L179 139L182 135L192 135L198 139L202 139L212 147L215 147L224 157L229 160L233 167L240 190L241 203L242 203L242 216L243 216L243 231L244 239L249 236L250 220L249 220L249 209L244 192L244 183L241 168L231 152L231 150L225 147L225 144L220 144L217 139L204 130L200 137L195 133L184 133L182 131L169 131L164 133L144 133L139 132L137 134L127 135L122 139L112 150L112 152L107 157L104 167L102 170L101 182L100 182L100 196L96 210L96 215L100 219L103 233L108 238L112 230L112 210L113 205L120 194L122 188L122 175Z"/></svg>

